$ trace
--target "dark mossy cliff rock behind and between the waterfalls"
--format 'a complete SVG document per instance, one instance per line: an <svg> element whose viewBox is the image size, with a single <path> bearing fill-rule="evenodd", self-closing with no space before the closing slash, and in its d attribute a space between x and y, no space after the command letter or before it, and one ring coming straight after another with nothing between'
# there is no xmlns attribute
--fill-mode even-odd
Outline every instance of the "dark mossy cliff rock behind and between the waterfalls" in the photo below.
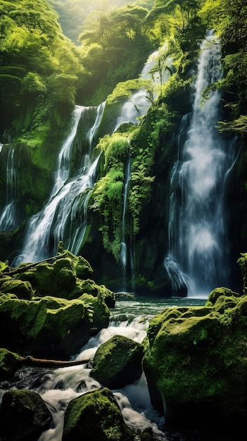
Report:
<svg viewBox="0 0 247 441"><path fill-rule="evenodd" d="M175 105L176 102L175 99ZM183 102L186 102L187 105L183 106L182 110L191 111L191 101L187 90L184 91ZM172 293L171 283L164 268L164 259L169 253L170 177L172 166L177 161L177 137L181 118L172 114L167 116L167 112L162 109L163 104L160 103L160 106L156 109L150 108L141 125L127 125L126 127L122 125L118 129L116 134L118 142L120 137L121 142L124 143L127 143L129 138L125 153L120 153L120 144L118 150L115 150L113 135L106 139L107 151L102 142L98 142L99 135L97 133L91 147L91 157L95 158L99 152L101 152L101 157L94 178L93 188L95 190L89 197L87 228L83 243L79 247L79 253L96 268L97 282L104 282L115 291L134 290L140 294L149 293L167 296ZM103 117L106 119L106 125L104 125L103 120L100 126L102 137L105 128L109 128L107 115L110 111L111 108L106 108ZM89 113L95 115L96 108L89 108ZM87 118L89 117L91 118L87 114ZM112 117L113 115L111 115ZM90 118L89 121L83 119L80 121L77 135L72 144L70 156L70 170L72 171L70 173L75 176L77 176L81 167L82 157L87 156L88 133L91 130ZM237 143L234 145L236 151L239 150L238 146ZM42 210L49 199L60 147L51 149L50 144L47 144L46 148L33 150L25 145L4 144L0 154L2 158L2 210L6 205L7 185L9 185L9 182L6 181L6 170L11 149L14 151L15 168L13 173L15 173L14 179L16 180L16 187L18 187L15 190L16 218L15 225L7 228L6 232L1 232L1 259L3 261L6 259L12 261L13 257L22 249L27 219L32 214ZM123 220L123 187L126 161L129 154L132 175L128 185L126 216ZM227 272L229 286L234 290L237 290L241 285L241 274L236 265L236 260L239 253L244 249L246 242L244 233L246 216L244 186L241 184L244 179L244 158L245 154L240 150L232 170L227 175L224 194L224 222L227 225L226 240L230 254ZM115 178L113 181L109 181L108 187L103 190L105 192L103 204L100 209L97 209L96 204L99 201L99 194L103 193L100 190L97 199L96 191L101 182L108 178L109 173L112 173L113 169L115 172L119 170L120 178L117 178L116 181L114 181ZM117 197L117 193L115 193L115 197L109 199L107 192L110 191L110 185L118 181L122 185L120 194ZM90 189L89 191L91 192ZM80 209L79 204L77 216L80 216L80 211L82 211L82 206ZM236 213L239 213L239 216L236 216ZM123 225L125 228L124 238L122 237ZM68 242L69 229L69 226L67 226L63 237L63 240ZM117 230L118 234L116 233ZM120 246L123 240L126 242L127 249L125 268L122 266L120 255ZM51 244L52 242L51 236ZM180 291L180 295L184 294L186 293Z"/></svg>

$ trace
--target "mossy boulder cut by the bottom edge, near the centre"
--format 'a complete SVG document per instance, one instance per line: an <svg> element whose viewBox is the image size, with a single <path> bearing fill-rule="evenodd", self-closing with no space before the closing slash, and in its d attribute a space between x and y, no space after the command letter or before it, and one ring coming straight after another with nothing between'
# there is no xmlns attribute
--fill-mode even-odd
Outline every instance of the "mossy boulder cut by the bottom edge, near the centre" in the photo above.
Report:
<svg viewBox="0 0 247 441"><path fill-rule="evenodd" d="M63 441L132 441L115 397L106 387L73 399L65 411Z"/></svg>

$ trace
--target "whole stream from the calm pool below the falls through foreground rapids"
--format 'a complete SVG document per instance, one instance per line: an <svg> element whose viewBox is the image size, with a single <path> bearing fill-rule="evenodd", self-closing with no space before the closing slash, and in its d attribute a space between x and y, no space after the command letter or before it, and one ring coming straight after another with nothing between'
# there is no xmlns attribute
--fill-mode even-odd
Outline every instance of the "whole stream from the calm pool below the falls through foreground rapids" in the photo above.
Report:
<svg viewBox="0 0 247 441"><path fill-rule="evenodd" d="M72 359L93 359L99 345L113 335L125 335L141 343L146 337L150 318L163 311L166 306L200 304L203 303L193 299L153 297L118 301L115 309L111 310L112 316L108 328L91 337ZM90 369L88 364L57 369L21 368L15 373L11 383L6 381L0 383L0 402L4 392L9 389L30 389L37 392L46 402L52 415L51 428L45 430L37 441L62 441L63 417L68 403L84 392L101 387L100 383L89 376ZM134 383L112 392L129 426L136 431L151 427L160 440L166 440L163 433L165 420L151 405L144 374Z"/></svg>

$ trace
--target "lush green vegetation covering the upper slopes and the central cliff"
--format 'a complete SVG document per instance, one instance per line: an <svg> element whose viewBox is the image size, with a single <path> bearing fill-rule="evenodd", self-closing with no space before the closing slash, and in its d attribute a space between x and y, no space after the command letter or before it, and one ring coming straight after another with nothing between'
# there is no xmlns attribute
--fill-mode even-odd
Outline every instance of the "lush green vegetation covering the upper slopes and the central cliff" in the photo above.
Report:
<svg viewBox="0 0 247 441"><path fill-rule="evenodd" d="M99 213L104 247L115 259L127 159L131 181L125 234L133 239L152 196L158 151L187 111L186 91L208 29L222 42L224 75L213 85L224 97L219 128L243 139L246 135L246 0L119 0L114 5L105 0L0 0L0 15L1 142L36 147L40 162L44 144L58 147L64 137L74 104L106 100L110 113L133 92L146 89L147 116L103 137L96 147L102 151L101 175L91 207ZM153 82L139 72L156 49L153 75L160 81Z"/></svg>

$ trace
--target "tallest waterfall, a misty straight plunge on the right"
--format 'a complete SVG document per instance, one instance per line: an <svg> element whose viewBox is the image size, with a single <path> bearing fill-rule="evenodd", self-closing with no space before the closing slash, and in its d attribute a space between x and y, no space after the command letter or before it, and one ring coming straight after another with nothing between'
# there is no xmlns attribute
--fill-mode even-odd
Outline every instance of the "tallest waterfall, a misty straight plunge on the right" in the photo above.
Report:
<svg viewBox="0 0 247 441"><path fill-rule="evenodd" d="M220 63L220 44L209 36L201 45L192 113L182 118L170 180L170 251L164 266L174 293L187 291L189 297L207 296L221 286L227 270L224 180L234 160L229 142L215 128L220 92L210 92L201 104L205 87L221 78Z"/></svg>

